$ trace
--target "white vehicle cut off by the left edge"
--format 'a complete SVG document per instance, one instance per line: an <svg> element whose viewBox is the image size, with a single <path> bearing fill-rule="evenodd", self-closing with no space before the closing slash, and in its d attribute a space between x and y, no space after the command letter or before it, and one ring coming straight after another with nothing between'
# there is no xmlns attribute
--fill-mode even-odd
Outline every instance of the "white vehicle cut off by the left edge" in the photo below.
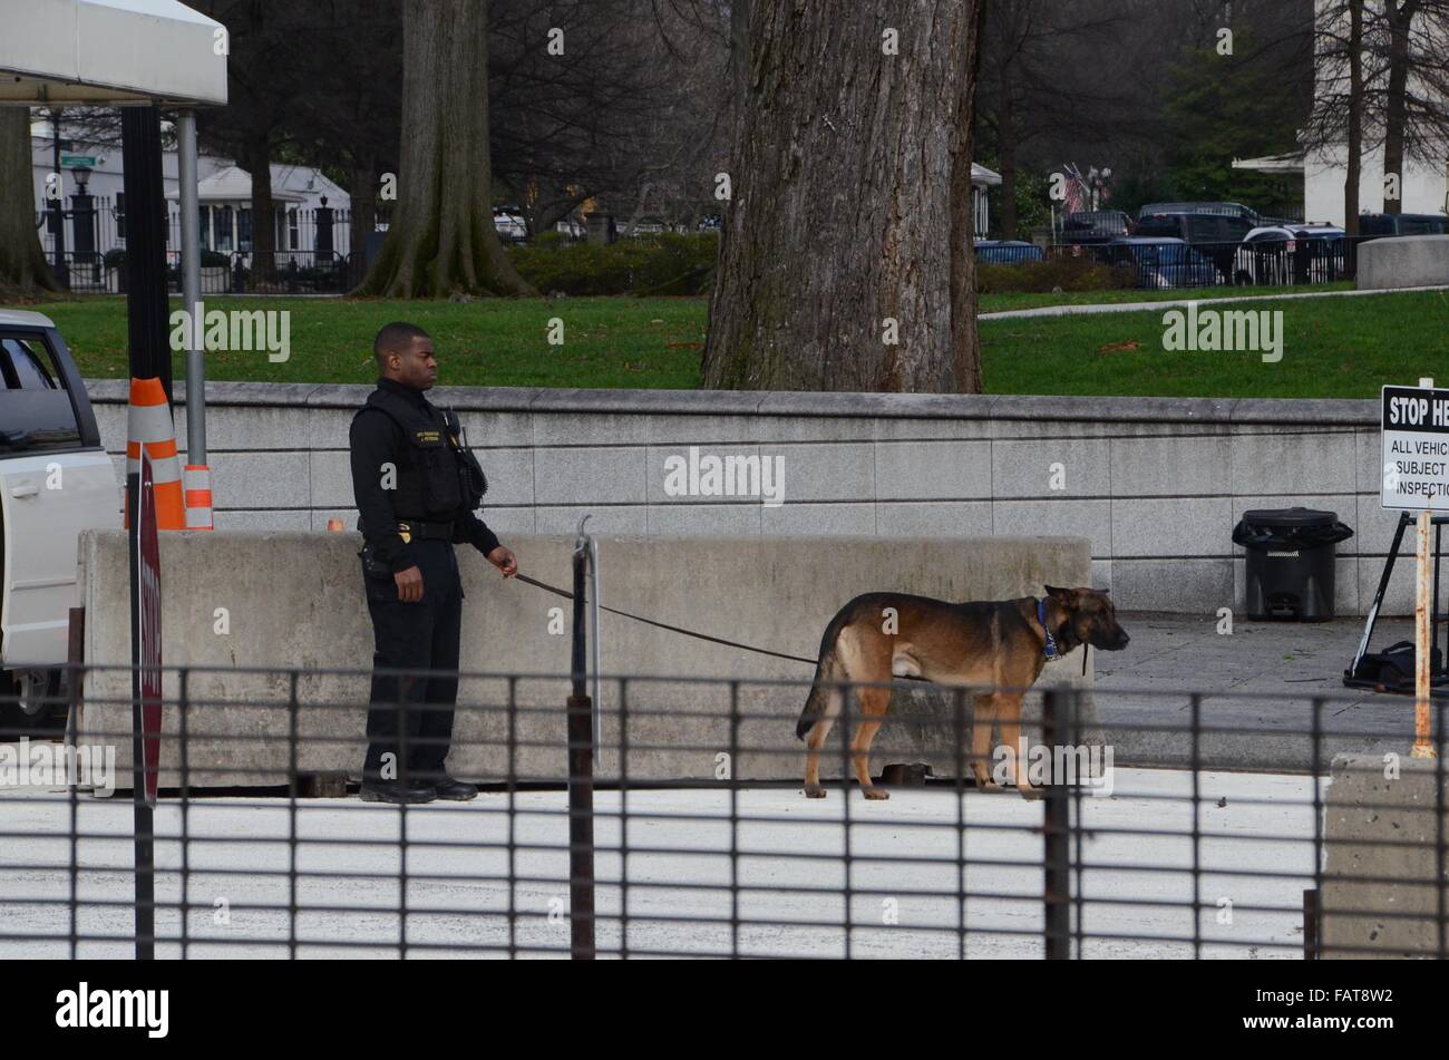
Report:
<svg viewBox="0 0 1449 1060"><path fill-rule="evenodd" d="M64 727L78 539L122 526L122 487L55 324L0 310L0 740Z"/></svg>

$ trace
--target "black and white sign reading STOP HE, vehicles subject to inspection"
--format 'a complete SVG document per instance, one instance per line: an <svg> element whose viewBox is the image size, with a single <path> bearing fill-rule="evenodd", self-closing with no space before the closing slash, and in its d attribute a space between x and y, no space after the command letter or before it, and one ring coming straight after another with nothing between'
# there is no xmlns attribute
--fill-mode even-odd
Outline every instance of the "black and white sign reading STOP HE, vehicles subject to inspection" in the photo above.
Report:
<svg viewBox="0 0 1449 1060"><path fill-rule="evenodd" d="M1384 387L1381 501L1449 511L1449 390Z"/></svg>

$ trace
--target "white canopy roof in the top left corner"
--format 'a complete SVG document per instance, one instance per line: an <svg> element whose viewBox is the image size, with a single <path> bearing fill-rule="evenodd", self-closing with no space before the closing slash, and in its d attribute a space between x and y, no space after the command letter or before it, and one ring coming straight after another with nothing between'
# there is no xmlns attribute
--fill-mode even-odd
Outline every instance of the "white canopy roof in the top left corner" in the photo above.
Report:
<svg viewBox="0 0 1449 1060"><path fill-rule="evenodd" d="M0 104L226 104L226 30L177 0L25 0L0 32Z"/></svg>

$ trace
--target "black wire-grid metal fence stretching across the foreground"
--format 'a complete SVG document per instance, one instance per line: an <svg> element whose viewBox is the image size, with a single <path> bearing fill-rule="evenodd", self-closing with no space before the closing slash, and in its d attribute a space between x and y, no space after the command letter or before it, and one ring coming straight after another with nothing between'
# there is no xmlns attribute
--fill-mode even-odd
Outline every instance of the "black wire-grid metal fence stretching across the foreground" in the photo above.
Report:
<svg viewBox="0 0 1449 1060"><path fill-rule="evenodd" d="M1330 783L1224 769L1285 733L1216 724L1232 694L1143 692L1151 720L1104 728L1090 691L1037 691L1026 799L990 788L1007 720L972 741L975 694L1001 689L900 682L871 754L890 801L865 801L833 779L848 688L807 799L807 682L606 678L596 743L568 675L462 675L449 767L483 794L391 807L351 794L368 673L190 668L167 675L152 814L35 772L70 753L70 779L130 785L133 704L101 694L130 670L72 675L68 741L0 733L23 752L0 769L0 956L1446 956L1442 702L1437 759L1340 759ZM1355 746L1333 697L1268 710L1308 762ZM1127 733L1162 760L1114 762Z"/></svg>

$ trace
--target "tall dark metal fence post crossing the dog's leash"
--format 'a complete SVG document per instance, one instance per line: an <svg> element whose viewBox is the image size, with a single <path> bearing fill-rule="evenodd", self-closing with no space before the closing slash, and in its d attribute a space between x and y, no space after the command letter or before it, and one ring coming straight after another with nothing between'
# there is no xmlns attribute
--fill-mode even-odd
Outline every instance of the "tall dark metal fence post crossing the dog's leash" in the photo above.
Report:
<svg viewBox="0 0 1449 1060"><path fill-rule="evenodd" d="M569 954L594 959L594 720L584 663L582 534L574 549L574 694L568 697L568 896Z"/></svg>

